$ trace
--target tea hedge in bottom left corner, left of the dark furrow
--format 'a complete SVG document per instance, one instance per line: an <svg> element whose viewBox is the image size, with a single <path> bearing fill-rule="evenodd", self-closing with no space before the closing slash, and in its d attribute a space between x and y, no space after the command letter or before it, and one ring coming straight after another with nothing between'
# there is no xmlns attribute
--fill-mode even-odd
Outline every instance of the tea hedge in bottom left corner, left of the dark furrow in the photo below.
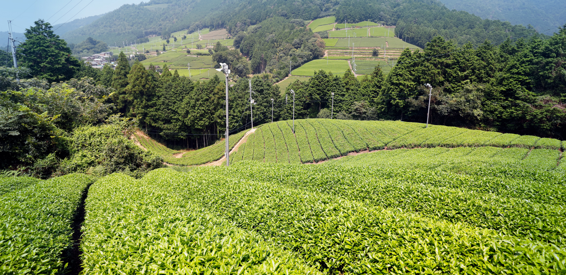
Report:
<svg viewBox="0 0 566 275"><path fill-rule="evenodd" d="M7 274L65 272L74 242L71 223L92 182L88 175L70 174L0 196L0 270Z"/></svg>

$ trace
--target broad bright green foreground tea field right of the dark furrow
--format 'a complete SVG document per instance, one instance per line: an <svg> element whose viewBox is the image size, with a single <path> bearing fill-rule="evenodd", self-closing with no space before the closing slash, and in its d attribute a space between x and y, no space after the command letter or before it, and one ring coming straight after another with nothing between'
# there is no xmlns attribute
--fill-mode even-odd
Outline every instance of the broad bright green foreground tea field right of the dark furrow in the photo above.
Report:
<svg viewBox="0 0 566 275"><path fill-rule="evenodd" d="M254 161L114 174L89 191L82 259L89 274L561 274L564 183Z"/></svg>

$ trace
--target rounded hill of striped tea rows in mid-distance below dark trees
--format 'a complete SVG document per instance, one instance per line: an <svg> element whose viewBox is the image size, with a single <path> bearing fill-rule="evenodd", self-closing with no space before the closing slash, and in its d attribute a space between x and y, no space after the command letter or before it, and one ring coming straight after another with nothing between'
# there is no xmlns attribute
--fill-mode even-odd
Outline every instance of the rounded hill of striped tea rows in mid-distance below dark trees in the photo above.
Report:
<svg viewBox="0 0 566 275"><path fill-rule="evenodd" d="M402 167L460 167L466 165L466 161L479 157L479 164L521 164L554 169L560 157L559 140L534 136L438 125L424 128L422 123L338 119L296 119L293 135L292 123L264 124L248 136L245 145L232 157L233 162L318 162L385 147L400 150L363 154L333 162L340 165L384 165L384 159L398 158ZM421 149L407 150L409 148ZM397 156L400 152L407 153Z"/></svg>

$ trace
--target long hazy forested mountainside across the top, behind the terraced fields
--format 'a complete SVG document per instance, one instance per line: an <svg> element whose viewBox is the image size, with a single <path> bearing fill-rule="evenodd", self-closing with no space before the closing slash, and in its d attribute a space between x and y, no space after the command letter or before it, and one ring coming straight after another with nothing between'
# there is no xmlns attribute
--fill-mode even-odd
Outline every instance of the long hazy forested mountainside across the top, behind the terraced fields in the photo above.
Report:
<svg viewBox="0 0 566 275"><path fill-rule="evenodd" d="M449 10L436 0L152 0L124 5L89 25L65 33L62 38L78 43L92 37L113 45L149 35L168 35L183 29L194 32L202 28L227 28L235 36L250 25L276 16L313 20L332 14L337 22L370 20L396 25L398 37L421 48L437 35L453 39L458 45L467 42L479 45L484 40L500 41L535 31L499 20L483 20L466 11Z"/></svg>

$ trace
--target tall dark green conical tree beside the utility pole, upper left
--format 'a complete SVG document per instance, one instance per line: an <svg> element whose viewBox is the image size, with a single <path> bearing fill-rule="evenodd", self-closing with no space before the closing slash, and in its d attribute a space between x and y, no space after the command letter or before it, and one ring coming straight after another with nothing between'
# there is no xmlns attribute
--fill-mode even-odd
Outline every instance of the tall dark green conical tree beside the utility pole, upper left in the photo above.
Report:
<svg viewBox="0 0 566 275"><path fill-rule="evenodd" d="M31 70L33 76L47 81L71 79L79 68L79 61L71 57L65 40L51 30L51 24L37 20L25 29L26 40L17 50L20 66Z"/></svg>

